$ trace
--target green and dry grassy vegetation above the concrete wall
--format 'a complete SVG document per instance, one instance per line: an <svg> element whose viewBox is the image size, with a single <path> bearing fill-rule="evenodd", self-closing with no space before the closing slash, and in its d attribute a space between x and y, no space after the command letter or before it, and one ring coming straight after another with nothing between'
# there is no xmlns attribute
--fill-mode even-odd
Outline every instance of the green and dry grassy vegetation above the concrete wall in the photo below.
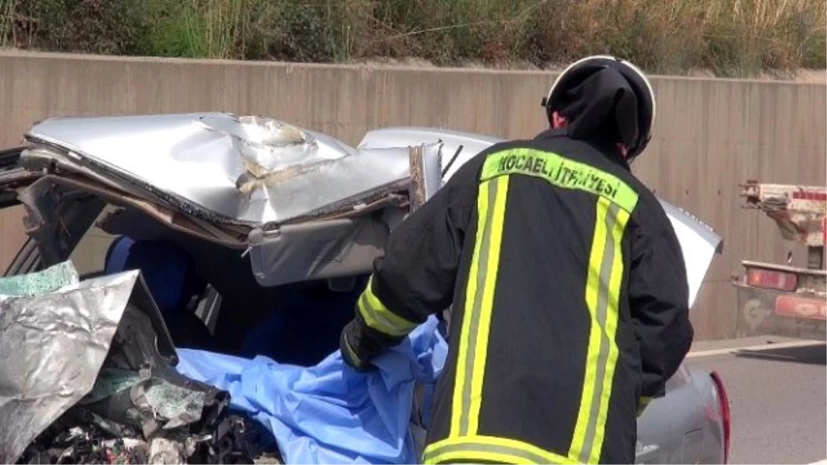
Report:
<svg viewBox="0 0 827 465"><path fill-rule="evenodd" d="M540 68L611 53L750 76L827 68L827 0L0 0L0 45Z"/></svg>

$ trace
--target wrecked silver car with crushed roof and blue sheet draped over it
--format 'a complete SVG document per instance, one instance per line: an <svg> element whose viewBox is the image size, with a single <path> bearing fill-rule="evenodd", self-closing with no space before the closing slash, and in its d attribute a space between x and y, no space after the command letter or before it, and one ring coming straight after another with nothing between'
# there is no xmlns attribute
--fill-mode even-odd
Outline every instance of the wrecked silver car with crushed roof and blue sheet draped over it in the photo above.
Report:
<svg viewBox="0 0 827 465"><path fill-rule="evenodd" d="M28 235L0 280L0 463L417 463L445 322L372 375L341 369L338 336L388 234L498 139L392 127L351 147L228 113L25 138L0 153ZM694 301L721 240L662 204ZM681 367L638 423L638 463L726 463L715 373Z"/></svg>

